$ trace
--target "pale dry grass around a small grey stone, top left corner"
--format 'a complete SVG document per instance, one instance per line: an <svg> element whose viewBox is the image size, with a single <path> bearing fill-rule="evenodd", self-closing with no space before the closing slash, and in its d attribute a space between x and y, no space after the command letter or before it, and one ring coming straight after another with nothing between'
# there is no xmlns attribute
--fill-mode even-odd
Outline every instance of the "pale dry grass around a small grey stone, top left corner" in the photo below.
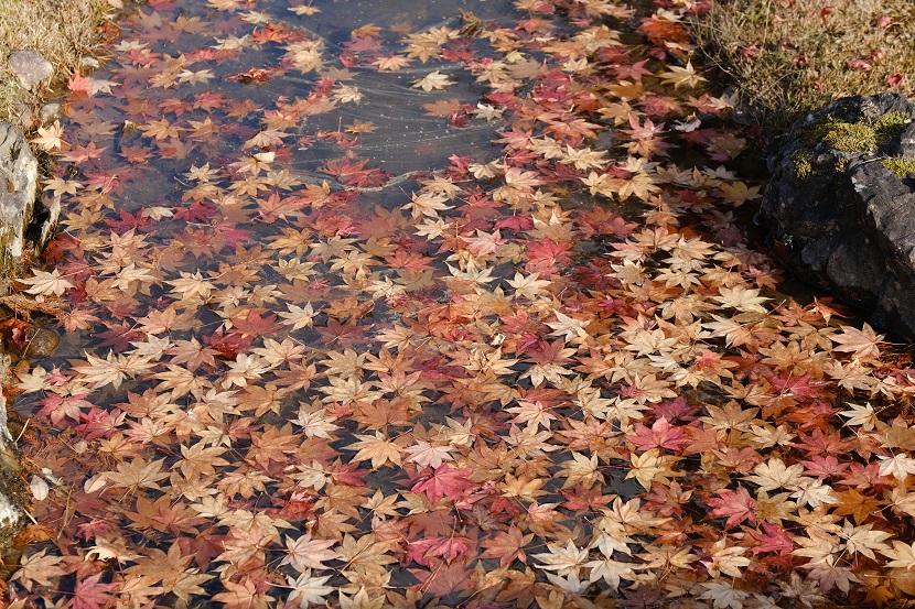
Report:
<svg viewBox="0 0 915 609"><path fill-rule="evenodd" d="M107 0L0 0L0 120L15 121L24 104L34 109L89 55L101 35ZM51 85L24 90L7 65L13 51L37 51L54 66Z"/></svg>

